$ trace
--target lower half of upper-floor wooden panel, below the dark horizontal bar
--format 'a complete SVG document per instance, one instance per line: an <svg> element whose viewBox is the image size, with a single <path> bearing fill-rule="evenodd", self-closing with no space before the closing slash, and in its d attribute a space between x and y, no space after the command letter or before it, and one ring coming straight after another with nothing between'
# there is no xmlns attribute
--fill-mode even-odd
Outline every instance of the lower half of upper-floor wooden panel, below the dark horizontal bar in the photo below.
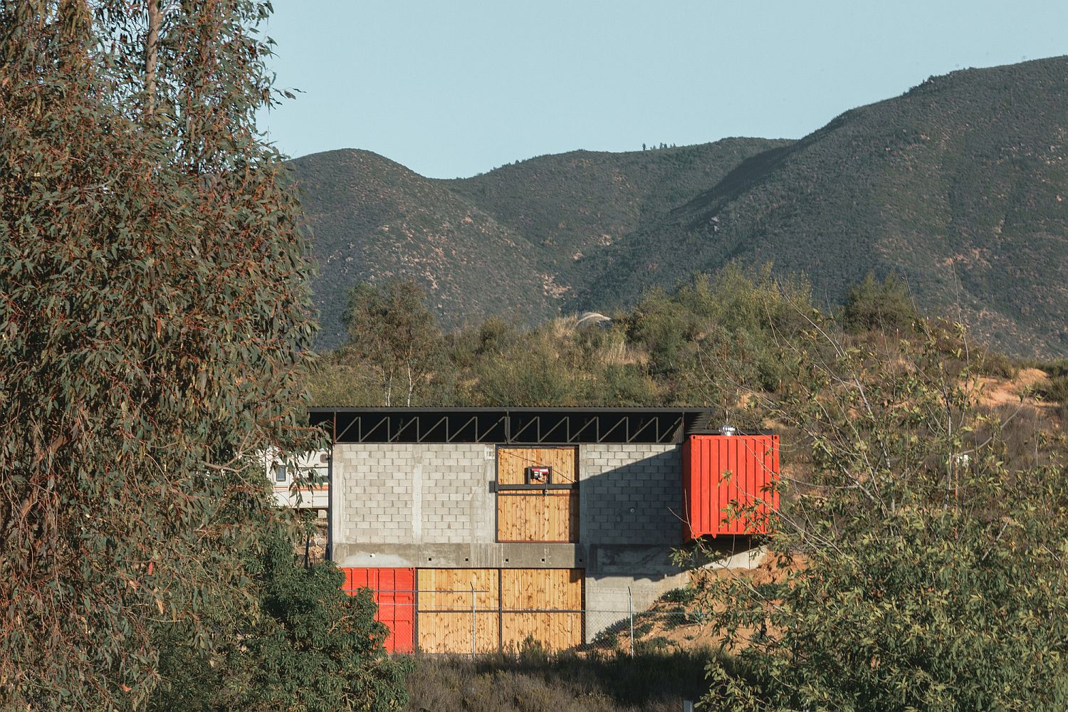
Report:
<svg viewBox="0 0 1068 712"><path fill-rule="evenodd" d="M497 493L498 541L578 541L579 493L575 490Z"/></svg>

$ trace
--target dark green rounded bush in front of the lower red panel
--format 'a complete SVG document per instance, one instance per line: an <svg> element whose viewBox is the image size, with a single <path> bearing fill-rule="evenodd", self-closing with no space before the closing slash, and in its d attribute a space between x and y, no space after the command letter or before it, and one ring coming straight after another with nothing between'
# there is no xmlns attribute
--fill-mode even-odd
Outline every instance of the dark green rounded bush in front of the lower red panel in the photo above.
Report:
<svg viewBox="0 0 1068 712"><path fill-rule="evenodd" d="M258 616L214 655L185 628L161 636L163 684L151 709L329 712L402 709L406 665L387 656L388 630L374 620L370 590L350 597L333 564L297 566L293 539L269 526L250 563Z"/></svg>

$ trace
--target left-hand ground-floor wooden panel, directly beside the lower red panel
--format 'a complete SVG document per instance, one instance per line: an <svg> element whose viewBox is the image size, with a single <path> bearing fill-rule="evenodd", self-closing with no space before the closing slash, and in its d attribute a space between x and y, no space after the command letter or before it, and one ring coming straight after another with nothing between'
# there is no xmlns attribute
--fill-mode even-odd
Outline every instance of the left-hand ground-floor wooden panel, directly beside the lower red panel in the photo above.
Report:
<svg viewBox="0 0 1068 712"><path fill-rule="evenodd" d="M474 652L500 647L497 569L420 569L419 649L472 652L471 588L474 594Z"/></svg>

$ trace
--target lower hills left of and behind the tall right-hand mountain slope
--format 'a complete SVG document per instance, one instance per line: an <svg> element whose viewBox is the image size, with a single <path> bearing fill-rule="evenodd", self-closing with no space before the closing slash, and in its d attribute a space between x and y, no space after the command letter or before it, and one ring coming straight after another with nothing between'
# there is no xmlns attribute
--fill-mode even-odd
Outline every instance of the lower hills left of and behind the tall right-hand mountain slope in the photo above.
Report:
<svg viewBox="0 0 1068 712"><path fill-rule="evenodd" d="M600 253L784 142L717 143L611 154L572 152L473 178L420 176L365 151L289 162L314 235L319 348L342 342L349 287L413 278L450 327L503 314L533 323L559 313ZM576 266L581 265L581 269Z"/></svg>

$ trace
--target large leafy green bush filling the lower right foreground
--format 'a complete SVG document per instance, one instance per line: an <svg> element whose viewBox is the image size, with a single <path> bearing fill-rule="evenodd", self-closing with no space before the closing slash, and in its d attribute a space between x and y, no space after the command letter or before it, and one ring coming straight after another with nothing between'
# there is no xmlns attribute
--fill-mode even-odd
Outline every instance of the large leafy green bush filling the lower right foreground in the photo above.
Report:
<svg viewBox="0 0 1068 712"><path fill-rule="evenodd" d="M798 347L798 387L767 414L808 474L771 522L779 575L702 594L735 654L709 668L712 709L1068 705L1064 464L1010 457L944 341Z"/></svg>

